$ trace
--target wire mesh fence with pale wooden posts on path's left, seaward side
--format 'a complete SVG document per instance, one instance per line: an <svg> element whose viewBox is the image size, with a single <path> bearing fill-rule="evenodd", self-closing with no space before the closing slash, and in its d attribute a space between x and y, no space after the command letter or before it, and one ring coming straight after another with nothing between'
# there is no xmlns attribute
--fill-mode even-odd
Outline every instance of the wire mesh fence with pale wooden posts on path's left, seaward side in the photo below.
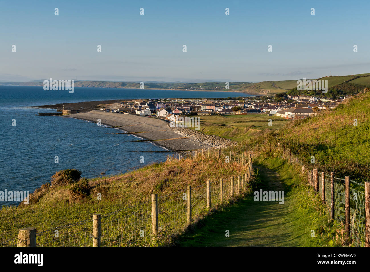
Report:
<svg viewBox="0 0 370 272"><path fill-rule="evenodd" d="M235 148L188 151L178 153L174 159L198 159L200 156L214 156L224 159L229 155L229 162L239 162L245 151ZM231 155L231 157L230 157ZM171 158L172 159L172 158ZM245 163L246 164L246 163ZM245 169L245 168L240 168ZM252 173L253 174L253 173ZM36 246L94 246L99 240L100 246L150 246L171 241L171 238L184 232L189 225L195 224L210 212L225 205L238 201L248 191L247 186L253 176L245 180L245 173L237 176L220 177L207 184L191 188L191 222L188 220L188 191L184 189L168 195L159 195L157 205L157 235L153 232L153 201L139 203L134 206L119 209L108 214L102 214L98 228L100 233L94 236L93 218L73 224L58 226L54 229L36 233ZM222 184L222 186L221 186ZM208 195L210 202L208 205ZM17 246L23 242L19 237L1 239L1 246Z"/></svg>

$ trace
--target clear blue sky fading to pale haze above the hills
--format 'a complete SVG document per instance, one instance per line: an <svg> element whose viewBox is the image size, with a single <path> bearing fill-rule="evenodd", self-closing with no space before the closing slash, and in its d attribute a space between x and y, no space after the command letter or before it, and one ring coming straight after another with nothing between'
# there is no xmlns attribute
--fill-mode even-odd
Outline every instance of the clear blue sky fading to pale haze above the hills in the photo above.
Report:
<svg viewBox="0 0 370 272"><path fill-rule="evenodd" d="M369 8L370 1L342 0L0 0L0 81L259 82L370 73Z"/></svg>

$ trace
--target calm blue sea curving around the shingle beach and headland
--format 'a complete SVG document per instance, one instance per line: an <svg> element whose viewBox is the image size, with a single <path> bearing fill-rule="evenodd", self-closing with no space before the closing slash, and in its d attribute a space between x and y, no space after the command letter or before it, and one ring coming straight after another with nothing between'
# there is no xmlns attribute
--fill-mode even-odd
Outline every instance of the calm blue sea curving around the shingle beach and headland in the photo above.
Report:
<svg viewBox="0 0 370 272"><path fill-rule="evenodd" d="M141 140L114 128L97 126L83 120L36 116L31 106L82 101L139 98L196 98L249 96L231 92L137 90L116 88L75 88L68 91L44 91L43 87L0 86L0 191L30 191L49 182L56 171L77 168L82 176L97 177L127 172L146 164L165 161L165 148ZM16 125L12 126L12 120ZM54 162L58 156L59 162ZM144 163L140 163L144 156ZM0 202L3 205L19 202Z"/></svg>

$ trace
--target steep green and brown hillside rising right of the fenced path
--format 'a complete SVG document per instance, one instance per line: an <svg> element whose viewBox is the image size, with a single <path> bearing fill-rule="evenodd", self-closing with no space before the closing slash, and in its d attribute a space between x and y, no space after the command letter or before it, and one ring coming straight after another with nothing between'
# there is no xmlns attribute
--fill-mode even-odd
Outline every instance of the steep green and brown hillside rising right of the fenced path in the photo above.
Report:
<svg viewBox="0 0 370 272"><path fill-rule="evenodd" d="M301 154L311 156L326 171L361 180L370 178L370 89L345 100L335 110L288 123L273 138ZM356 124L357 120L357 125Z"/></svg>

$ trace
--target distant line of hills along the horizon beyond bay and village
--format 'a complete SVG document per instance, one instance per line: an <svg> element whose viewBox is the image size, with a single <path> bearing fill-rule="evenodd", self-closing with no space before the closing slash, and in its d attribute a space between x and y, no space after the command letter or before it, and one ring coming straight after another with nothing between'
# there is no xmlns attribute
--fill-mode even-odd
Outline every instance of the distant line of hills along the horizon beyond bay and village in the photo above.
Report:
<svg viewBox="0 0 370 272"><path fill-rule="evenodd" d="M258 83L250 82L229 82L229 89L225 89L225 82L203 82L203 83L181 83L181 82L145 82L144 88L151 89L177 89L177 90L214 90L214 91L239 91L250 94L311 94L319 95L311 91L298 91L297 80L276 80L262 81ZM307 78L308 79L308 78ZM325 76L311 80L327 80L328 96L343 96L358 93L364 87L370 87L370 73L357 75ZM0 82L0 85L21 85L21 86L43 86L43 81L30 82ZM94 88L140 88L139 82L120 82L120 81L92 81L75 80L75 87L94 87Z"/></svg>

